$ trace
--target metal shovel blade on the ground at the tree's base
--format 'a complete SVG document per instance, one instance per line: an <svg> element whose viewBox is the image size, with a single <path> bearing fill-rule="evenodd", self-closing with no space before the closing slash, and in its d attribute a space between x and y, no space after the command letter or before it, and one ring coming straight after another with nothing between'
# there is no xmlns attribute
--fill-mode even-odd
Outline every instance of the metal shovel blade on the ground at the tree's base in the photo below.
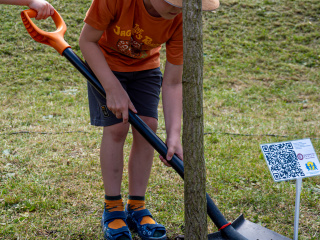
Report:
<svg viewBox="0 0 320 240"><path fill-rule="evenodd" d="M248 240L291 240L290 238L262 227L259 224L255 224L244 219L243 215L240 215L231 225ZM208 235L208 240L227 239L229 238L224 237L221 232L211 233Z"/></svg>

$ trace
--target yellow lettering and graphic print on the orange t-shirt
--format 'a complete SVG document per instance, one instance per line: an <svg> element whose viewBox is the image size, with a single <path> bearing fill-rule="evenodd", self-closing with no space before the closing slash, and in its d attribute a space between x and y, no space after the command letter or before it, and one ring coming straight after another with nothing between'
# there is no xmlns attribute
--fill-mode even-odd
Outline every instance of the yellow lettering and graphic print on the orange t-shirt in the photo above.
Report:
<svg viewBox="0 0 320 240"><path fill-rule="evenodd" d="M126 39L131 36L130 40L118 40L117 51L132 58L146 58L148 54L145 50L150 50L161 45L152 43L152 38L143 36L144 30L138 24L135 24L132 31L122 30L119 26L116 26L113 32L120 37L126 37ZM142 46L144 46L145 50L142 50Z"/></svg>

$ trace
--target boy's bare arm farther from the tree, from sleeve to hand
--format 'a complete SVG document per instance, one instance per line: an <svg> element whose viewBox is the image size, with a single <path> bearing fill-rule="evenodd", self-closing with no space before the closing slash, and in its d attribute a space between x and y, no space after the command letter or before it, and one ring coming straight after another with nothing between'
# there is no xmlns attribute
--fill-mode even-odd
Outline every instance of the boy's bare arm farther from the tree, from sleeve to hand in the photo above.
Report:
<svg viewBox="0 0 320 240"><path fill-rule="evenodd" d="M99 45L103 31L97 30L85 24L79 40L81 52L91 67L92 71L99 79L106 91L107 107L116 115L122 118L124 123L128 122L128 109L137 113L128 94L121 86L121 83L111 71Z"/></svg>

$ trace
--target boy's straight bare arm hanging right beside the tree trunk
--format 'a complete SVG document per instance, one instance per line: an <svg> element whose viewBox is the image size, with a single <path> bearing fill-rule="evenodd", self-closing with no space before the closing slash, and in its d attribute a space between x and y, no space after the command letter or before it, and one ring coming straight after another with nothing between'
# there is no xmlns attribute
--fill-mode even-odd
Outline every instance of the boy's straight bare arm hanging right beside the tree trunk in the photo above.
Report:
<svg viewBox="0 0 320 240"><path fill-rule="evenodd" d="M181 115L182 115L182 70L183 65L173 65L166 62L162 82L162 103L166 124L168 146L167 160L171 160L173 154L183 158L180 141ZM166 161L160 157L166 164Z"/></svg>

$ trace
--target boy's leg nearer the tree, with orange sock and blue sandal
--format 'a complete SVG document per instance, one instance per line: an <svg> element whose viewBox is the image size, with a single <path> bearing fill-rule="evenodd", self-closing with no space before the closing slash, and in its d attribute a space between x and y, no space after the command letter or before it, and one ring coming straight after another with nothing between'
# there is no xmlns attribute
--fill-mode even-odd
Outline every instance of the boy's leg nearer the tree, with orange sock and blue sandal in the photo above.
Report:
<svg viewBox="0 0 320 240"><path fill-rule="evenodd" d="M156 132L158 120L140 116ZM129 199L127 202L127 221L143 239L166 239L164 226L158 224L145 207L145 193L153 163L154 149L132 128L133 143L129 157ZM136 212L137 214L134 214Z"/></svg>

